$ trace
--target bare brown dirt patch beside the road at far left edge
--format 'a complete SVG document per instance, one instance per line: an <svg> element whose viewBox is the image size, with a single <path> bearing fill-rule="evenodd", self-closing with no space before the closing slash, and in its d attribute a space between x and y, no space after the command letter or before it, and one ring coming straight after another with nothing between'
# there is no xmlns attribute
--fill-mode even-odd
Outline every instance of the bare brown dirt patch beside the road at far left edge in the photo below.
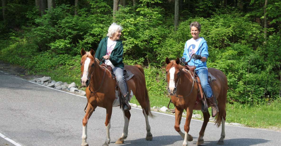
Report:
<svg viewBox="0 0 281 146"><path fill-rule="evenodd" d="M10 63L7 63L7 62L1 61L1 60L0 60L0 70L7 72L9 74L13 74L15 76L20 76L26 80L41 77L41 76L37 76L37 75L28 74L28 70L25 69L24 67L21 67L19 65L10 64Z"/></svg>

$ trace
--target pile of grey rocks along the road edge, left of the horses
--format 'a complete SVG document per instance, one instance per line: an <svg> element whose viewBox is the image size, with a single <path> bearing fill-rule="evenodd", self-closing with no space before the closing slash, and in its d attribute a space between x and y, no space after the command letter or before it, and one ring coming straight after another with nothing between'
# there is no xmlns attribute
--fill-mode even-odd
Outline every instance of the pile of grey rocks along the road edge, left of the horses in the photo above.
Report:
<svg viewBox="0 0 281 146"><path fill-rule="evenodd" d="M47 87L55 88L58 90L64 90L68 92L78 93L79 95L86 96L86 92L83 90L78 90L77 85L73 82L71 84L68 84L66 82L61 81L54 81L51 80L51 77L41 77L30 80L31 82L35 82L40 85L45 85Z"/></svg>

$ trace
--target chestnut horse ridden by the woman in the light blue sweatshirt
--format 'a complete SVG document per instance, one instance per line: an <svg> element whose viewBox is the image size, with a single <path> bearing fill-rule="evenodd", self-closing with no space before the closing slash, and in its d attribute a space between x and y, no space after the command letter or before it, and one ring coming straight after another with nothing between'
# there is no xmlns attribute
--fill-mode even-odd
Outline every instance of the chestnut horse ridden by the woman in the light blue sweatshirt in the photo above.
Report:
<svg viewBox="0 0 281 146"><path fill-rule="evenodd" d="M189 132L189 125L192 117L193 110L201 109L201 102L196 104L198 86L194 83L194 88L192 89L193 79L191 74L183 69L183 66L179 65L180 60L170 61L169 58L166 58L166 77L169 82L170 96L171 101L175 105L175 130L182 136L184 139L183 146L187 146L187 141L192 141L193 138ZM226 93L228 90L227 79L223 72L218 69L208 68L208 71L216 77L216 80L210 85L213 90L214 96L217 98L218 104L218 113L216 116L217 127L221 125L221 138L217 142L219 145L224 144L225 138L225 117L226 117ZM176 96L177 95L177 96ZM208 104L210 107L210 104ZM185 133L182 133L180 130L180 121L182 119L182 112L186 110L186 120L184 125ZM201 127L197 145L203 144L203 136L207 123L209 122L210 114L209 112L203 112L204 122Z"/></svg>

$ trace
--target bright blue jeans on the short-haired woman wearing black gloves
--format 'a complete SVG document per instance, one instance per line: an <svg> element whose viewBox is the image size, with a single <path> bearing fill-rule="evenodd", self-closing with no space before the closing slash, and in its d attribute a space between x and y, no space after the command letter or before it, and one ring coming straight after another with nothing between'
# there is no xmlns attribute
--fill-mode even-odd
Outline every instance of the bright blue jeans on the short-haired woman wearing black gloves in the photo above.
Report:
<svg viewBox="0 0 281 146"><path fill-rule="evenodd" d="M213 96L213 92L208 82L208 69L202 68L195 71L196 74L199 76L199 79L201 81L201 86L203 88L203 91L207 95L207 98L211 98Z"/></svg>

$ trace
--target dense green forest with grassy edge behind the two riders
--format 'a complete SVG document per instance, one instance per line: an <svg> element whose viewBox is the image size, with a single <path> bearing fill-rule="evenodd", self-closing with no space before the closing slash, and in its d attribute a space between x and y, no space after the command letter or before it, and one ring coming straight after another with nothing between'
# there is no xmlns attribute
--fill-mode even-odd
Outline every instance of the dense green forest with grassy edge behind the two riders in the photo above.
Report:
<svg viewBox="0 0 281 146"><path fill-rule="evenodd" d="M158 107L169 101L164 60L182 56L191 38L189 24L198 21L209 46L208 67L223 71L228 79L229 121L281 127L277 120L257 124L251 121L255 116L243 120L235 115L241 111L237 108L262 114L265 106L273 114L277 110L279 117L273 118L280 119L280 0L1 2L0 60L21 65L28 74L80 85L80 50L96 51L110 24L117 22L123 27L123 61L144 67L151 106Z"/></svg>

